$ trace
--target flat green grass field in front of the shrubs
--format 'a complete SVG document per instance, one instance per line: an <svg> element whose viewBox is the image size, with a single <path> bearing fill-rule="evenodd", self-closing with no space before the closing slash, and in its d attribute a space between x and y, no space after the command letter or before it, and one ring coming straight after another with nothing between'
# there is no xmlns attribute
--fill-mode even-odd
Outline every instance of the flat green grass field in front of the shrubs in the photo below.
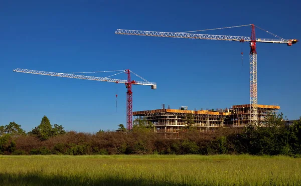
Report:
<svg viewBox="0 0 301 186"><path fill-rule="evenodd" d="M0 185L301 185L301 158L0 156Z"/></svg>

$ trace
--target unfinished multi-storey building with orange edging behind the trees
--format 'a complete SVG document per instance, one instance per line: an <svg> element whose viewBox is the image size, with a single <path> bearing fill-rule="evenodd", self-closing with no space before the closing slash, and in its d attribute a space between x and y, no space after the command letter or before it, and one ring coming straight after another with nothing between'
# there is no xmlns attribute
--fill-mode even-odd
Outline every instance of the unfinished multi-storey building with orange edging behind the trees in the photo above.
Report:
<svg viewBox="0 0 301 186"><path fill-rule="evenodd" d="M258 105L258 122L263 121L268 112L278 109L279 106ZM135 120L152 122L157 132L178 133L189 125L200 132L214 132L221 127L243 127L250 124L250 104L217 110L188 110L182 106L180 109L136 111L133 116Z"/></svg>

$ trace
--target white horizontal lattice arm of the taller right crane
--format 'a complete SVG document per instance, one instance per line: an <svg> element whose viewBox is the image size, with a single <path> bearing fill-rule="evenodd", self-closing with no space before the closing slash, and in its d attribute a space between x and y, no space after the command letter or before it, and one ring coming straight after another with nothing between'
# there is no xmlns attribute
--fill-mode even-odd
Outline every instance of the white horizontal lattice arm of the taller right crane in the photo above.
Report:
<svg viewBox="0 0 301 186"><path fill-rule="evenodd" d="M120 35L134 35L134 36L153 36L153 37L165 37L165 38L187 38L187 39L203 39L203 40L221 40L221 41L239 41L249 42L250 37L245 36L222 36L222 35L210 35L210 34L190 34L181 32L157 32L157 31L136 31L136 30L123 30L117 29L115 34ZM283 43L294 44L298 40L285 40L285 39L256 39L256 42L261 43Z"/></svg>

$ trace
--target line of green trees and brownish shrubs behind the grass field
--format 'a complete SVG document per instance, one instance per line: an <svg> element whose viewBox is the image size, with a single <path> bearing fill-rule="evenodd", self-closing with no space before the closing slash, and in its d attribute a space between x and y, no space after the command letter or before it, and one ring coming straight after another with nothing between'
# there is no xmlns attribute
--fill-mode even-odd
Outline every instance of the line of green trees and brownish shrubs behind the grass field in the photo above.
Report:
<svg viewBox="0 0 301 186"><path fill-rule="evenodd" d="M190 118L188 118L190 119ZM270 113L264 127L220 128L215 133L200 133L193 125L177 139L154 132L152 123L133 122L128 131L119 124L116 131L97 133L65 131L51 125L44 116L41 124L26 133L11 122L0 126L0 154L253 154L301 156L301 117L290 126L283 114Z"/></svg>

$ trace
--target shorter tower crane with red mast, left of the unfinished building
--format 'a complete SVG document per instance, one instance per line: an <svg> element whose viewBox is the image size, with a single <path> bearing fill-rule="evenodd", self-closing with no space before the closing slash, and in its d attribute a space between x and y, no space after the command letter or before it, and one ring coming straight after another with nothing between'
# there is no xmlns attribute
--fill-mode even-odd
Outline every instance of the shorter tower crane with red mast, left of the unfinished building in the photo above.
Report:
<svg viewBox="0 0 301 186"><path fill-rule="evenodd" d="M38 70L28 70L28 69L14 69L14 72L21 72L21 73L27 73L27 74L38 74L38 75L45 75L45 76L56 76L56 77L63 77L63 78L75 78L75 79L85 79L85 80L94 80L94 81L105 81L105 82L111 82L111 83L123 83L125 84L125 87L127 89L126 92L126 128L130 130L132 128L132 85L148 85L151 86L152 89L157 89L157 84L153 82L149 82L142 78L141 76L135 74L131 70L115 70L115 71L101 71L101 72L118 72L114 75L125 73L127 74L127 80L121 80L121 79L111 79L108 77L114 76L108 76L108 77L94 77L94 76L84 76L84 75L77 75L79 73L97 73L97 72L71 72L71 73L58 73L58 72L45 72L45 71L38 71ZM121 72L120 72L121 71ZM144 80L143 81L134 81L131 80L130 73L136 75L137 77ZM117 96L116 96L117 97Z"/></svg>

